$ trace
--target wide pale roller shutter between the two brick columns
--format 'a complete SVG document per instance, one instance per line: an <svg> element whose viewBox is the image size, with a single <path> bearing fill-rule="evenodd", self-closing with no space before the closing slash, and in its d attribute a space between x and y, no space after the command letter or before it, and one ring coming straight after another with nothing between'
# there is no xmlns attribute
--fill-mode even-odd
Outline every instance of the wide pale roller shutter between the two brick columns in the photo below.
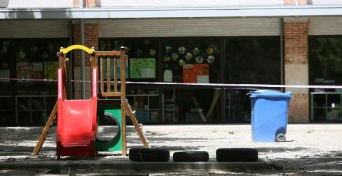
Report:
<svg viewBox="0 0 342 176"><path fill-rule="evenodd" d="M99 21L100 37L278 36L277 18L113 19Z"/></svg>

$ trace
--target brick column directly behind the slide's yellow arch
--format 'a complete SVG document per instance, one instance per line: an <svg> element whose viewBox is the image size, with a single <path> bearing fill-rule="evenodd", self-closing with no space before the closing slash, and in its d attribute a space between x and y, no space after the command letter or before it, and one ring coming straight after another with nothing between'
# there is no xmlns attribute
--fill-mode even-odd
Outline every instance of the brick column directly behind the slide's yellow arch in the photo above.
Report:
<svg viewBox="0 0 342 176"><path fill-rule="evenodd" d="M80 44L80 24L76 21L73 24L73 44ZM98 48L98 23L96 21L85 21L84 24L84 44L88 48ZM81 80L81 56L80 51L74 51L73 73L76 80ZM90 80L90 54L85 53L86 80ZM90 83L86 83L86 98L90 98ZM81 83L75 83L75 98L81 99Z"/></svg>

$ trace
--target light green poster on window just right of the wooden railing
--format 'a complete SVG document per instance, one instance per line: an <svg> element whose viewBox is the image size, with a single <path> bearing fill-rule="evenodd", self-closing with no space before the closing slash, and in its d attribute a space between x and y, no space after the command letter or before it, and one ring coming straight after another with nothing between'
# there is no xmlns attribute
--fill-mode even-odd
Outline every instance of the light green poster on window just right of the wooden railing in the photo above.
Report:
<svg viewBox="0 0 342 176"><path fill-rule="evenodd" d="M130 58L130 78L155 78L155 58Z"/></svg>

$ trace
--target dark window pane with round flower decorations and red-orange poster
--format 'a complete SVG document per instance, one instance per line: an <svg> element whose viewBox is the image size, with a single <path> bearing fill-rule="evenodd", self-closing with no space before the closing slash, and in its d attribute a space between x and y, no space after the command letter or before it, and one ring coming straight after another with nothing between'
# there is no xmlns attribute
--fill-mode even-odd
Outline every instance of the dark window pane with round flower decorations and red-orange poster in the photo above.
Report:
<svg viewBox="0 0 342 176"><path fill-rule="evenodd" d="M218 39L162 40L162 81L218 83L219 53Z"/></svg>

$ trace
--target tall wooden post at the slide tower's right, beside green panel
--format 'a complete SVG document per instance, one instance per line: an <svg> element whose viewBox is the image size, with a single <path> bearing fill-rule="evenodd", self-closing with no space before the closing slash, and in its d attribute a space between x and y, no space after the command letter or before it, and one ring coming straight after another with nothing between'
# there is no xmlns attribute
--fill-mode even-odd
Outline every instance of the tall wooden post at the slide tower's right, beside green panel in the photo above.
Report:
<svg viewBox="0 0 342 176"><path fill-rule="evenodd" d="M125 47L120 48L120 72L121 72L121 117L123 125L123 156L126 156L126 112L125 112L125 101L126 101L126 76L125 76Z"/></svg>

